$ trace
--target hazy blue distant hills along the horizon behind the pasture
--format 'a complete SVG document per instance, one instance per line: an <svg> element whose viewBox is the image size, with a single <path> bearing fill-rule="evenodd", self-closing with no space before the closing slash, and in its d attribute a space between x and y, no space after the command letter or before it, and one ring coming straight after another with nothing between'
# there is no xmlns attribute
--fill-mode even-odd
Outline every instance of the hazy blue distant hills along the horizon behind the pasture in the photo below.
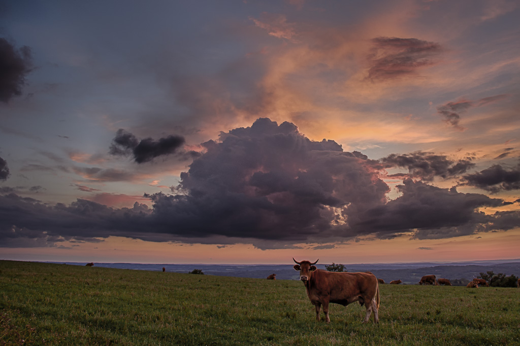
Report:
<svg viewBox="0 0 520 346"><path fill-rule="evenodd" d="M57 263L57 262L52 262ZM62 262L59 262L62 263ZM66 262L70 265L84 266L85 263ZM188 273L193 269L201 269L206 275L237 276L239 278L267 278L276 274L278 280L298 280L298 272L293 265L207 265L207 264L138 264L138 263L96 263L97 267ZM325 269L326 264L318 264ZM349 272L370 271L385 282L401 280L404 284L417 284L421 276L435 274L437 278L472 280L480 272L493 271L507 276L520 276L520 259L472 261L472 262L438 262L396 263L396 264L352 264L345 265Z"/></svg>

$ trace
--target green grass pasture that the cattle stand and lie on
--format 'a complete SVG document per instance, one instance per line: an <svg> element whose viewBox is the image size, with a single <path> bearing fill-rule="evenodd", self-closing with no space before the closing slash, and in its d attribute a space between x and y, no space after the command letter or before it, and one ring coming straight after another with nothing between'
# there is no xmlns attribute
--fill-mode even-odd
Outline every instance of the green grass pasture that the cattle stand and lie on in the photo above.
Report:
<svg viewBox="0 0 520 346"><path fill-rule="evenodd" d="M298 281L0 261L0 345L520 344L518 288L380 295L379 325L358 303L327 324Z"/></svg>

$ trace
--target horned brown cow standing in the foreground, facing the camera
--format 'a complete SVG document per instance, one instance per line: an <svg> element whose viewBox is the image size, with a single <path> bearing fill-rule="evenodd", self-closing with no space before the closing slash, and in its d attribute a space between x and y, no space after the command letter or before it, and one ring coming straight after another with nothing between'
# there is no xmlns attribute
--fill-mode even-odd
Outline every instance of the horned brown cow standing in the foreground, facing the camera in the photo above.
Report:
<svg viewBox="0 0 520 346"><path fill-rule="evenodd" d="M379 322L379 283L372 273L331 272L316 268L310 261L298 262L294 270L300 271L300 280L305 285L307 296L316 308L316 321L320 320L320 308L323 306L325 320L330 322L329 303L347 306L359 301L365 304L367 314L363 323L367 323L374 312L374 323Z"/></svg>

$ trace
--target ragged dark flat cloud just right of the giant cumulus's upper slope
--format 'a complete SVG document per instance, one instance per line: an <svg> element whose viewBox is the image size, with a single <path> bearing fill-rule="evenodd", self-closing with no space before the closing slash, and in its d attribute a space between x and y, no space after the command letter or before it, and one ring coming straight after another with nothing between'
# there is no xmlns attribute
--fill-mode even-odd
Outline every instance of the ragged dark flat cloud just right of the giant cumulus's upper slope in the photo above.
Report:
<svg viewBox="0 0 520 346"><path fill-rule="evenodd" d="M425 151L409 154L391 154L380 159L384 168L407 168L409 176L423 181L433 181L434 177L456 177L474 167L470 159L450 160L445 155L437 155ZM400 174L398 174L400 176Z"/></svg>

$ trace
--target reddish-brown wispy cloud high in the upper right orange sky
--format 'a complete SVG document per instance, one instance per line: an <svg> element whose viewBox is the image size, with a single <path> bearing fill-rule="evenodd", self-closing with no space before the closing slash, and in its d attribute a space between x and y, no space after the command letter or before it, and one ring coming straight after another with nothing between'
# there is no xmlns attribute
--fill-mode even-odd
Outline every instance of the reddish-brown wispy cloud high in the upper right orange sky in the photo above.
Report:
<svg viewBox="0 0 520 346"><path fill-rule="evenodd" d="M437 63L442 51L439 44L417 38L376 37L368 56L368 78L372 80L394 79L411 75L421 67Z"/></svg>

